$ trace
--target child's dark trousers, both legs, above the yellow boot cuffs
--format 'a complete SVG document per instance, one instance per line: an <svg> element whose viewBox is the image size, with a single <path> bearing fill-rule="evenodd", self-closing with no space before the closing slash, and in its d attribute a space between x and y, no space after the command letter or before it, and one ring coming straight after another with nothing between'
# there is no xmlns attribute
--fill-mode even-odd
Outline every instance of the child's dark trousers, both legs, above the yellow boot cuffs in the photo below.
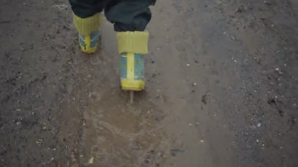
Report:
<svg viewBox="0 0 298 167"><path fill-rule="evenodd" d="M144 31L156 0L69 0L76 16L91 17L104 10L115 31Z"/></svg>

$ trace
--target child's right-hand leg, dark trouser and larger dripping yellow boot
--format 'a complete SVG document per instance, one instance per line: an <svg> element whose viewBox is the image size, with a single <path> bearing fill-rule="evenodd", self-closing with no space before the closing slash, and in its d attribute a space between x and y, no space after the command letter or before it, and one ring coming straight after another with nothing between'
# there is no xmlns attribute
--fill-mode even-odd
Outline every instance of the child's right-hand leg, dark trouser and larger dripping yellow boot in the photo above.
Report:
<svg viewBox="0 0 298 167"><path fill-rule="evenodd" d="M153 3L155 0L109 0L105 6L105 16L117 31L121 85L125 90L145 88L143 55L148 53L149 33L144 30Z"/></svg>

